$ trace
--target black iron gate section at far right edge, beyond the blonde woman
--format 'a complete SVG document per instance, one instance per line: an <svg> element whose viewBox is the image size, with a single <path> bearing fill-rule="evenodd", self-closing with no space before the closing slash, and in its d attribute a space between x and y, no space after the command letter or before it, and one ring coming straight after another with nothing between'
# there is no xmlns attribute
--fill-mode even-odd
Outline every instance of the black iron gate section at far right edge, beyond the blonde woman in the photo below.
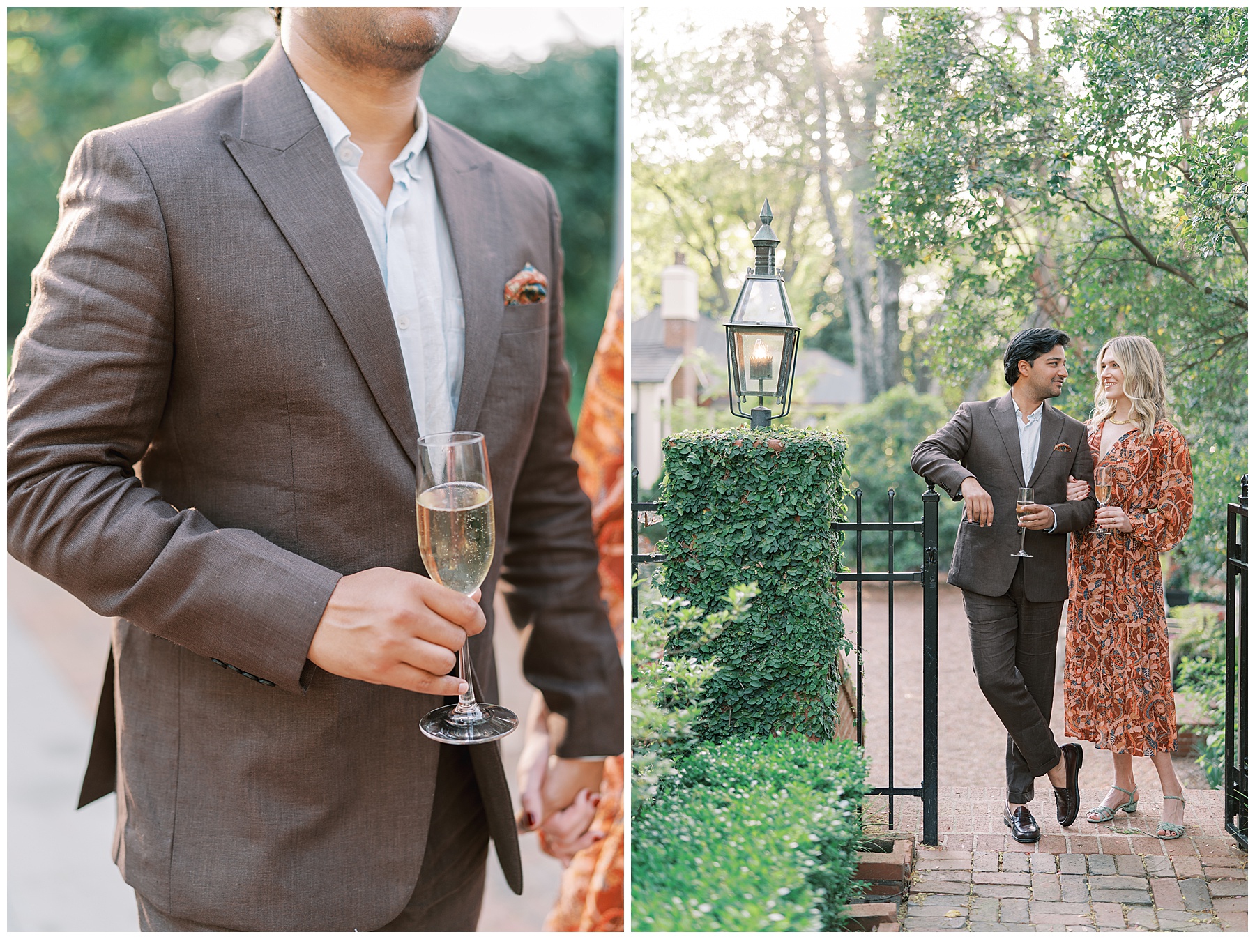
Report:
<svg viewBox="0 0 1255 939"><path fill-rule="evenodd" d="M1225 829L1246 847L1246 487L1229 503L1225 551Z"/></svg>

